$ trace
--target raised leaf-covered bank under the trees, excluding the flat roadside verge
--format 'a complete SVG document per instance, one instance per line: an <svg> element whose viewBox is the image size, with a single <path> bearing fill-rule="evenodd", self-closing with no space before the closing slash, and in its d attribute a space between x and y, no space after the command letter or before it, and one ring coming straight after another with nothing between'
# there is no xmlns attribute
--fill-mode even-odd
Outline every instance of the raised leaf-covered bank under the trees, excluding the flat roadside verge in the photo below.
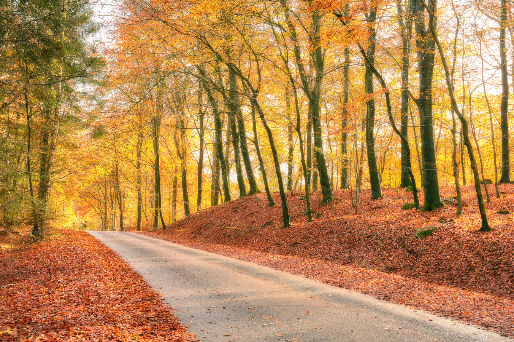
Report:
<svg viewBox="0 0 514 342"><path fill-rule="evenodd" d="M313 210L321 217L307 223L302 194L288 193L292 225L282 226L282 208L267 206L265 194L256 194L207 208L174 222L157 233L176 239L192 239L237 246L287 256L317 258L337 264L377 268L410 278L421 278L474 292L513 296L514 238L512 214L514 185L499 185L502 198L491 198L486 210L492 232L478 232L480 215L474 187L463 186L462 216L456 206L445 205L434 212L400 210L412 201L404 189L384 189L384 198L369 200L361 194L354 214L350 192L336 191L335 203L319 205L313 194ZM443 187L442 197L454 196L454 188ZM494 194L493 185L489 192ZM280 203L279 194L273 194ZM423 203L423 194L420 194ZM335 206L335 207L334 207ZM295 216L296 215L296 216ZM434 225L437 230L422 240L414 232Z"/></svg>

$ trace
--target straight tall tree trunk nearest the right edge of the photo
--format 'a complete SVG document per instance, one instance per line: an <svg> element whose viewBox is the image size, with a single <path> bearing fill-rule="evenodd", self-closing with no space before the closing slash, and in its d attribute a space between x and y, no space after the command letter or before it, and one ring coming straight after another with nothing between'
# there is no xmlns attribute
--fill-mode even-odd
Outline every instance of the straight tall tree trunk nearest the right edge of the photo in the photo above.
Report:
<svg viewBox="0 0 514 342"><path fill-rule="evenodd" d="M508 101L509 82L507 73L507 49L505 47L505 27L507 24L507 0L501 0L500 23L500 69L502 71L502 101L500 106L500 120L502 129L502 175L500 183L510 183L510 158L509 158L509 126L508 126Z"/></svg>

